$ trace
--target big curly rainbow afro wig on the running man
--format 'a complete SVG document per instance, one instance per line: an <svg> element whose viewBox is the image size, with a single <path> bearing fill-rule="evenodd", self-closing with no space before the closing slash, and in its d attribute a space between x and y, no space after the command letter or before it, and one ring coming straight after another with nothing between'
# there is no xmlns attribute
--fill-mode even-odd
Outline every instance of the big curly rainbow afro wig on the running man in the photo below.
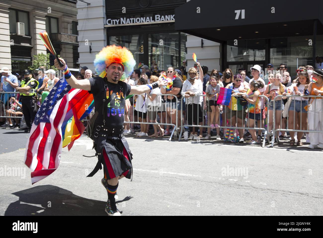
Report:
<svg viewBox="0 0 323 238"><path fill-rule="evenodd" d="M122 74L121 80L128 77L136 61L133 58L132 53L126 48L116 45L108 45L104 47L96 56L94 60L95 71L99 77L104 78L106 76L105 69L112 63L119 63L122 65L122 69L125 74Z"/></svg>

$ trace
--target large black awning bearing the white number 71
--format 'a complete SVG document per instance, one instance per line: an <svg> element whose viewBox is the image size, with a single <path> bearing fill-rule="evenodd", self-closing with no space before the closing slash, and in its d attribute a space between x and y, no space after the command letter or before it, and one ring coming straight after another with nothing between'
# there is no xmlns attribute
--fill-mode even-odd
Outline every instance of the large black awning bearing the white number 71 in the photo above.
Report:
<svg viewBox="0 0 323 238"><path fill-rule="evenodd" d="M175 30L218 42L306 36L313 35L317 19L320 35L321 9L322 0L313 0L310 5L300 0L191 0L175 9Z"/></svg>

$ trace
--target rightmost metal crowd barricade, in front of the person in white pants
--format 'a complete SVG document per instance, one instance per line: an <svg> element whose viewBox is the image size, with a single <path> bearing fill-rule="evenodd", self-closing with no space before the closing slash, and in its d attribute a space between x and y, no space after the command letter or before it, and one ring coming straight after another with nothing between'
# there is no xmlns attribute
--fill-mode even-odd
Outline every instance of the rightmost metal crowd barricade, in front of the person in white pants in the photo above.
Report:
<svg viewBox="0 0 323 238"><path fill-rule="evenodd" d="M295 106L294 106L294 110L293 110L293 122L294 122L293 125L291 125L291 126L289 125L289 118L290 117L289 117L289 108L288 108L288 113L287 113L287 118L286 118L287 119L287 125L286 125L287 129L282 128L282 120L280 121L280 125L279 125L280 128L276 128L276 113L278 113L278 112L283 113L283 110L276 110L276 101L280 101L281 105L283 104L283 100L281 100L281 99L278 100L277 99L277 98L281 98L281 97L287 97L287 99L289 99L291 97L292 99L289 99L289 100L291 100L292 102L294 101L294 105L295 105L295 101L297 101L296 100L297 97L306 97L306 98L308 98L309 101L308 101L308 106L307 106L307 130L295 129L296 123L297 123L297 121L295 122L295 115L296 115L296 113L298 113L295 110ZM322 113L322 111L316 111L316 108L317 108L316 106L319 105L320 103L321 103L321 108L323 108L323 100L321 100L321 102L317 102L316 99L311 100L311 98L322 99L323 97L322 96L313 96L313 95L304 95L304 96L296 96L296 95L283 96L283 95L278 95L278 96L276 96L274 98L273 101L271 101L271 102L273 102L273 108L274 108L274 110L273 110L273 129L271 131L271 133L273 135L272 141L271 141L271 147L274 146L274 142L275 142L275 138L276 138L276 132L278 132L278 131L294 131L294 132L304 132L304 133L306 133L306 132L323 133L323 130L319 131L319 130L309 130L308 129L308 127L309 127L309 123L308 123L308 114L309 114L309 112L311 111L311 113L313 113L313 110L314 110L314 114L316 114L318 112ZM300 108L301 109L306 107L306 103L304 101L306 101L306 100L300 100L300 103L301 103ZM302 105L305 105L305 106L303 107ZM323 121L323 113L321 115L321 121ZM314 118L314 125L315 125L315 122L316 122L316 120ZM300 117L300 125L302 125L302 117ZM277 139L278 143L280 143L278 136L277 136L276 139ZM291 138L291 139L293 139L293 138Z"/></svg>

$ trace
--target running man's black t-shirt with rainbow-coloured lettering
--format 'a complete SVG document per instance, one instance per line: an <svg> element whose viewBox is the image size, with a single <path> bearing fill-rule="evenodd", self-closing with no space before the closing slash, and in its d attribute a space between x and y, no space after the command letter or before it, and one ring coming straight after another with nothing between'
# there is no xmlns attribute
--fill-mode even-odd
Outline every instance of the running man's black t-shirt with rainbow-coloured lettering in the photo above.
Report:
<svg viewBox="0 0 323 238"><path fill-rule="evenodd" d="M86 79L84 79L86 80ZM96 122L102 123L104 115L102 115L101 105L105 98L108 102L108 107L105 109L105 125L111 127L121 127L124 120L125 98L130 94L131 85L119 81L113 84L107 81L106 78L94 77L89 78L91 90L89 93L93 94L95 112L99 110L99 115ZM108 86L105 89L105 85Z"/></svg>

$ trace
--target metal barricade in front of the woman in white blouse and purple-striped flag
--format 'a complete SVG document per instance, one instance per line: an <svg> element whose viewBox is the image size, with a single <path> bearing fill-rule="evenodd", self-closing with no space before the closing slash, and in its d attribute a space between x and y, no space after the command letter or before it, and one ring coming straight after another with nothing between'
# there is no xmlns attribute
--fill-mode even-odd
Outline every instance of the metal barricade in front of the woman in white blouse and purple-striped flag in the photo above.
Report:
<svg viewBox="0 0 323 238"><path fill-rule="evenodd" d="M202 96L203 98L204 97L206 97L206 95L198 95L198 96ZM241 96L234 96L236 99L237 99L237 103L239 103L239 98L241 97ZM269 99L268 99L268 97L266 97L266 96L264 96L264 95L259 95L258 96L259 98L264 98L264 101L267 103L267 105L269 104ZM204 100L203 100L204 101ZM265 104L265 102L262 102L263 104ZM183 106L184 106L184 103L183 103L183 98L182 98L182 100L181 100L181 104L182 104L182 109L183 109ZM238 110L230 110L230 118L227 118L227 115L226 115L226 111L227 110L229 110L229 108L228 108L228 106L224 106L223 105L223 113L221 114L221 113L219 113L219 128L224 128L224 129L226 129L226 128L230 128L230 129L237 129L237 130L239 130L239 129L244 129L244 130L263 130L264 131L264 140L263 140L263 142L262 142L262 147L265 147L265 142L266 142L266 138L267 138L267 133L268 133L268 122L269 122L269 120L268 120L268 118L269 118L269 110L267 110L267 112L266 112L266 125L267 125L267 128L265 128L265 126L263 125L263 123L262 123L262 114L260 115L260 125L258 125L258 127L256 127L256 120L254 120L254 127L237 127L237 126L232 126L232 125L229 125L229 123L227 124L227 121L228 121L228 119L232 119L232 115L233 115L233 111L234 111L234 113L237 111L238 113L242 113L242 115L244 115L244 111L245 110L247 110L247 108L248 108L248 105L245 107L245 108L242 108L242 110L240 110L240 111L238 111ZM209 112L209 115L211 114L211 112L210 112L210 104L209 104L209 106L208 106L208 108L207 108L207 112ZM265 109L264 109L265 110ZM195 112L196 113L196 112ZM203 104L202 104L202 113L203 113ZM194 114L194 112L193 112L193 110L192 110L192 114ZM198 120L198 118L199 118L199 112L197 112L197 120ZM245 113L245 114L248 114L248 112L247 113ZM221 126L221 117L222 117L222 115L223 115L223 120L222 120L222 123L223 123L223 126ZM254 115L255 115L255 112L254 112ZM192 117L193 117L193 115L192 115ZM255 117L254 117L255 118ZM186 115L186 119L188 119L188 115ZM210 120L210 118L208 117L208 121ZM237 119L235 119L235 121L236 121L236 123L237 123ZM245 124L245 121L243 120L242 121L242 123L243 123L243 126L244 126L244 124ZM213 124L213 123L208 123L208 124ZM188 126L188 127L199 127L199 128L203 128L203 127L205 127L205 128L208 128L208 127L210 127L209 125L205 125L205 123L204 123L204 119L203 119L203 123L202 123L202 125L190 125L190 124L188 124L188 123L183 123L183 121L181 120L181 128L182 128L182 130L181 130L181 134L180 134L180 136L179 136L179 141L180 141L180 139L181 139L181 137L182 137L182 133L183 133L183 131L184 131L184 127L186 127L186 126ZM228 127L228 126L230 126L230 127ZM200 130L201 130L200 129ZM225 131L223 131L223 133L225 133ZM239 136L244 136L243 134L242 135L240 135L239 134ZM269 137L268 137L268 143L269 143Z"/></svg>

